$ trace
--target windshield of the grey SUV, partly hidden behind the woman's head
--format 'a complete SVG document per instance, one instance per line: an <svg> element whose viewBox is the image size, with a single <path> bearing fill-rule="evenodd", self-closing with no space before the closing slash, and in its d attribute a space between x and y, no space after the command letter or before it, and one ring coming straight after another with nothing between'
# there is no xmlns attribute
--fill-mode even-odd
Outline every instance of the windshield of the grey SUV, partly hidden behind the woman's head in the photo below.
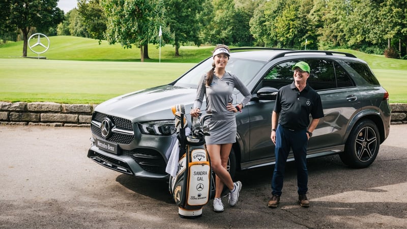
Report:
<svg viewBox="0 0 407 229"><path fill-rule="evenodd" d="M213 59L209 58L199 65L195 66L188 73L183 75L175 83L176 86L184 88L197 88L199 80L203 74L207 73L212 68ZM230 58L226 65L226 71L234 73L239 77L240 80L245 85L253 79L257 72L266 64L267 62L254 61L249 59L240 58Z"/></svg>

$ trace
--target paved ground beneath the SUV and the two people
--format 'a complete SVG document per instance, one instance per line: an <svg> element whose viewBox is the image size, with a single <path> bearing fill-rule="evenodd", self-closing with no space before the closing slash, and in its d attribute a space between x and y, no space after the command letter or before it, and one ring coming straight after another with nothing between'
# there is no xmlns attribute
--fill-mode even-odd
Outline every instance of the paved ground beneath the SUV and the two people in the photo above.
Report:
<svg viewBox="0 0 407 229"><path fill-rule="evenodd" d="M0 126L0 228L405 228L407 125L392 125L376 161L345 167L310 159L311 207L297 205L296 171L281 204L267 207L273 166L243 171L236 207L181 219L167 183L136 179L86 158L88 128ZM224 198L226 204L227 199Z"/></svg>

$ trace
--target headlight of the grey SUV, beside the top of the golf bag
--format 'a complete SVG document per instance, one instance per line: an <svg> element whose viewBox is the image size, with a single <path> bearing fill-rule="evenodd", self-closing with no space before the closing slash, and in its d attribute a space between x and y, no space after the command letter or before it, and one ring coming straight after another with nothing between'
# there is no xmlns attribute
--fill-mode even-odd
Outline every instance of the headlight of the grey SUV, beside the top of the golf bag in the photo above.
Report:
<svg viewBox="0 0 407 229"><path fill-rule="evenodd" d="M169 136L175 133L175 121L163 120L138 123L138 128L143 134Z"/></svg>

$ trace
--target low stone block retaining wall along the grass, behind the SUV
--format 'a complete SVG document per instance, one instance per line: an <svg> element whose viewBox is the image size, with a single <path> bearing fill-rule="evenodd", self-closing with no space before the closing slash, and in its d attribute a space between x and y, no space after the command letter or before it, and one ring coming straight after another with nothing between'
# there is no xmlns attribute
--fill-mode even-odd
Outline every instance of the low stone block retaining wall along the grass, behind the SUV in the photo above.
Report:
<svg viewBox="0 0 407 229"><path fill-rule="evenodd" d="M0 125L90 127L97 105L0 102ZM407 124L407 104L390 104L391 124Z"/></svg>

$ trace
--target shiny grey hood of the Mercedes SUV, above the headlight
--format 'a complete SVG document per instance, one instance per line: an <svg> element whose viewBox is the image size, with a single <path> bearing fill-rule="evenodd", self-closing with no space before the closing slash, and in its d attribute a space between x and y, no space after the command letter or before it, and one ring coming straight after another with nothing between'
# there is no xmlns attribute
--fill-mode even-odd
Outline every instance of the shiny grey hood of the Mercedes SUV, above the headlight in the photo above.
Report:
<svg viewBox="0 0 407 229"><path fill-rule="evenodd" d="M171 107L185 105L189 114L196 89L162 85L109 99L96 106L95 111L134 122L174 119Z"/></svg>

